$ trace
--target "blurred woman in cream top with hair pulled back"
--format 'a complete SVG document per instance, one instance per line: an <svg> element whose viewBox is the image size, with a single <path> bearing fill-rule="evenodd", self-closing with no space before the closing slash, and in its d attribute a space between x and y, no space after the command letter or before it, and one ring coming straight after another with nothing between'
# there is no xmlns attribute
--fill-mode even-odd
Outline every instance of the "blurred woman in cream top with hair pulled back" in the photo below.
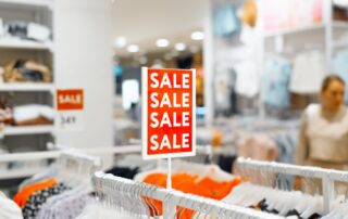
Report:
<svg viewBox="0 0 348 219"><path fill-rule="evenodd" d="M321 88L321 104L309 105L301 120L296 164L348 170L348 110L345 82L327 76Z"/></svg>

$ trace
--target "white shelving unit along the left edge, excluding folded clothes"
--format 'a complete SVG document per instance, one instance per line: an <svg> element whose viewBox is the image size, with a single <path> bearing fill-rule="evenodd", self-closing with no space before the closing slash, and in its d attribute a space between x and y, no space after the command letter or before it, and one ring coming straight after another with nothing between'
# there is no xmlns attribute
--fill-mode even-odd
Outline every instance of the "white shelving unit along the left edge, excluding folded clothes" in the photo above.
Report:
<svg viewBox="0 0 348 219"><path fill-rule="evenodd" d="M9 59L32 59L45 63L54 69L54 1L53 0L0 0L0 14L4 22L25 21L35 22L48 26L52 31L51 40L48 42L37 42L0 36L0 66ZM18 20L14 17L18 17ZM53 72L52 82L2 82L0 83L0 96L10 93L13 98L11 103L16 104L48 104L54 107L55 100L55 73ZM57 152L47 150L47 145L54 142L54 125L38 126L5 126L0 133L2 143L7 145L11 154L0 155L0 160L25 162L40 160L42 158L57 157ZM26 152L23 147L18 152L16 146L27 145ZM44 150L44 151L42 151ZM33 156L33 154L35 156ZM5 158L7 157L7 158ZM29 157L28 159L26 159ZM32 157L32 158L30 158ZM23 159L24 158L24 159ZM42 171L45 167L0 170L0 180L25 178Z"/></svg>

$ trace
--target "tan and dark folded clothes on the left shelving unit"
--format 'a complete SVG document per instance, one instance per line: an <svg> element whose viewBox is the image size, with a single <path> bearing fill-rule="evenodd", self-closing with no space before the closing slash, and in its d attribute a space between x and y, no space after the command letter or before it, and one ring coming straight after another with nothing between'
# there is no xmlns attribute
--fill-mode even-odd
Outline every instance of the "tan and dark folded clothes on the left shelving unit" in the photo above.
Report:
<svg viewBox="0 0 348 219"><path fill-rule="evenodd" d="M3 67L4 82L50 82L51 70L42 64L29 60L12 60Z"/></svg>

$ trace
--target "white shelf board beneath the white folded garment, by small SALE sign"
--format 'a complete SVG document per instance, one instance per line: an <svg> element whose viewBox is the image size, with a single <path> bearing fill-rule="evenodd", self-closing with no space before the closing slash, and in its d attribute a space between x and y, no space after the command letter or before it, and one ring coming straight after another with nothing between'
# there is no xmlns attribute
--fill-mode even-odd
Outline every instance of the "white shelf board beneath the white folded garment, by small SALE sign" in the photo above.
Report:
<svg viewBox="0 0 348 219"><path fill-rule="evenodd" d="M25 134L40 134L40 133L52 133L54 131L53 125L45 126L16 126L5 127L4 136L25 136Z"/></svg>

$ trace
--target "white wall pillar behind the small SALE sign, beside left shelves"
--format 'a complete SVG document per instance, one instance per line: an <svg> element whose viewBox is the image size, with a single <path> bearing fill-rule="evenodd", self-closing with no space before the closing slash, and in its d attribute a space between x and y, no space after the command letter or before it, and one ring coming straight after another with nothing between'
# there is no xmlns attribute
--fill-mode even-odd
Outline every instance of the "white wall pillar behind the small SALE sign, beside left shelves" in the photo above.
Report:
<svg viewBox="0 0 348 219"><path fill-rule="evenodd" d="M110 0L55 0L55 81L85 91L84 130L58 132L57 143L111 146L112 3Z"/></svg>

